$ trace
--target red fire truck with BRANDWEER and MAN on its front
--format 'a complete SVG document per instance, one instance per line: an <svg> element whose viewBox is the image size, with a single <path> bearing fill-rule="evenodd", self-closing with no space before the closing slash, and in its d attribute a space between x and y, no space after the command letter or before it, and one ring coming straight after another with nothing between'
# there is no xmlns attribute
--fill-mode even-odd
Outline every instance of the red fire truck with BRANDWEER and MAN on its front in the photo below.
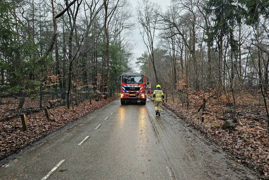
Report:
<svg viewBox="0 0 269 180"><path fill-rule="evenodd" d="M121 104L125 104L126 101L140 101L141 104L146 104L146 87L149 83L146 75L139 72L123 72L118 76L117 83L121 83Z"/></svg>

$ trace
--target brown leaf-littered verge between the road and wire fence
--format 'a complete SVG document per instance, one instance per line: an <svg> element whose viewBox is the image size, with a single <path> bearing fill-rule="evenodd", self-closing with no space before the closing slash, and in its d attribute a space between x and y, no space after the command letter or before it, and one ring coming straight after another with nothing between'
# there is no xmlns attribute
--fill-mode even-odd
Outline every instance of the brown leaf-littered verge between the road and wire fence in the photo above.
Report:
<svg viewBox="0 0 269 180"><path fill-rule="evenodd" d="M48 110L49 120L46 119L44 111L26 115L28 130L22 130L20 118L0 122L0 160L8 155L21 150L34 141L47 136L59 128L86 116L97 109L104 107L118 98L113 96L107 100L92 101L85 100L75 106L74 110L66 106L59 106Z"/></svg>

